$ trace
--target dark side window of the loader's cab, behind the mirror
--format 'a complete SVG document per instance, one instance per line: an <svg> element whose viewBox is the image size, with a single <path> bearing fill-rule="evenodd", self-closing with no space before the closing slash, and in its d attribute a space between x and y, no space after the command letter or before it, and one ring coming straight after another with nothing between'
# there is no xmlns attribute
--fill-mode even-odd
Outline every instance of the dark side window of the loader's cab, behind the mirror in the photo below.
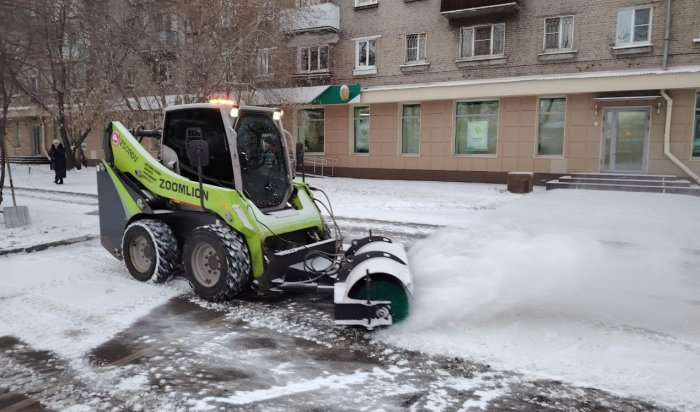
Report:
<svg viewBox="0 0 700 412"><path fill-rule="evenodd" d="M201 128L202 138L209 144L209 165L202 168L202 180L205 183L233 188L231 154L219 109L194 108L166 112L163 161L170 163L175 160L180 175L197 180L197 165L189 163L186 147L186 131L193 127Z"/></svg>

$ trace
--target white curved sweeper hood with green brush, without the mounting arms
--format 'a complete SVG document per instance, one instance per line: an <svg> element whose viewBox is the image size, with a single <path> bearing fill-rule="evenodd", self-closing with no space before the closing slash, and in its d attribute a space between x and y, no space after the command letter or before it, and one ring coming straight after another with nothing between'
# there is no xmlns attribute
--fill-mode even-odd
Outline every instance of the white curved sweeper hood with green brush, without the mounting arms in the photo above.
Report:
<svg viewBox="0 0 700 412"><path fill-rule="evenodd" d="M353 241L334 285L336 323L372 329L404 320L413 281L403 245L382 236Z"/></svg>

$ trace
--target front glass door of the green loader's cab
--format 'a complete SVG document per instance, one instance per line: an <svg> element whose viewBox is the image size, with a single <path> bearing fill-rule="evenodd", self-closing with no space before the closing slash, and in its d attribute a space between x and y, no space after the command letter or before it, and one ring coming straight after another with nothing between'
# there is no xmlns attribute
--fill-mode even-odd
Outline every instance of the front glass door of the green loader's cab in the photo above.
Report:
<svg viewBox="0 0 700 412"><path fill-rule="evenodd" d="M284 206L291 182L282 135L266 112L243 112L236 122L243 191L260 209Z"/></svg>

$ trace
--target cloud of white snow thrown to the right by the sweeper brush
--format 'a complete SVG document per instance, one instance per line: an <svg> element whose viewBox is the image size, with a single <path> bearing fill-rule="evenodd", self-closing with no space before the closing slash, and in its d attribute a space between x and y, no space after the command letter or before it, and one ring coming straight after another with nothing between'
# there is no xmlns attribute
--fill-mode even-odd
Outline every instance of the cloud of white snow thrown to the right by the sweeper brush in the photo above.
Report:
<svg viewBox="0 0 700 412"><path fill-rule="evenodd" d="M700 408L698 200L554 191L438 230L409 250L411 316L378 338Z"/></svg>

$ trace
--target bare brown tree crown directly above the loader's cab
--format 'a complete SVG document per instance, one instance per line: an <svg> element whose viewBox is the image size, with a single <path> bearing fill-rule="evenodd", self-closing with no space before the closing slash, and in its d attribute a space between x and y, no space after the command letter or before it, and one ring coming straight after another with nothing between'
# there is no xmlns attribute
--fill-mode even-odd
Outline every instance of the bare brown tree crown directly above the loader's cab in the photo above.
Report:
<svg viewBox="0 0 700 412"><path fill-rule="evenodd" d="M285 53L276 7L261 0L151 1L113 14L111 47L128 48L109 73L120 108L135 118L211 97L249 101L259 89L285 85L295 63Z"/></svg>

